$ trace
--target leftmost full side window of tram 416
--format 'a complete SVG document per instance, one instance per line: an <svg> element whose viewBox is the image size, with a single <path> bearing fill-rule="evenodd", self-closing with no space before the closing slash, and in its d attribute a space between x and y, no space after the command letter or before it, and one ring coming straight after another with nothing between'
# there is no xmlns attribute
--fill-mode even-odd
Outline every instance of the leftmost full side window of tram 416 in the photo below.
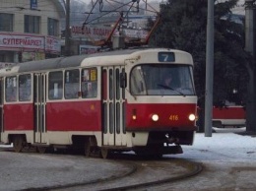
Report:
<svg viewBox="0 0 256 191"><path fill-rule="evenodd" d="M17 77L7 77L5 81L5 99L7 102L17 100Z"/></svg>

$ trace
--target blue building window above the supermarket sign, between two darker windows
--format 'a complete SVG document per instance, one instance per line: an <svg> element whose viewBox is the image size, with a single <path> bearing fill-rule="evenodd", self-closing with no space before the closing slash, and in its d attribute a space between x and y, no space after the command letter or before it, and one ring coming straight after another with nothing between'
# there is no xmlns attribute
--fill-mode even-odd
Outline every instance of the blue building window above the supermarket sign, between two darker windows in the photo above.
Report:
<svg viewBox="0 0 256 191"><path fill-rule="evenodd" d="M40 17L26 15L24 25L24 32L39 33Z"/></svg>

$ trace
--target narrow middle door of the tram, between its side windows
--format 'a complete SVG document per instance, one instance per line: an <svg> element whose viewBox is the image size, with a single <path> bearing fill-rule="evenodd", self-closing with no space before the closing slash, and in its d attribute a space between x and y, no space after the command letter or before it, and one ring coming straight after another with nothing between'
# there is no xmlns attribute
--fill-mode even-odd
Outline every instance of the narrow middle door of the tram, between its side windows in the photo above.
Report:
<svg viewBox="0 0 256 191"><path fill-rule="evenodd" d="M33 77L33 85L34 143L46 143L46 74L35 74Z"/></svg>

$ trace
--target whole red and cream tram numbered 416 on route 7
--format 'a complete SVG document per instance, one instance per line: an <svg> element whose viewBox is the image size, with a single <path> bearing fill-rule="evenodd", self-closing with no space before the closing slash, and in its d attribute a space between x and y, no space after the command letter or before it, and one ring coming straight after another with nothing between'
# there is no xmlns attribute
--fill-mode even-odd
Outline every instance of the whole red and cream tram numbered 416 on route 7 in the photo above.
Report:
<svg viewBox="0 0 256 191"><path fill-rule="evenodd" d="M112 151L161 156L193 143L197 96L192 56L184 51L32 61L2 69L0 80L1 142L16 152L65 146L102 158Z"/></svg>

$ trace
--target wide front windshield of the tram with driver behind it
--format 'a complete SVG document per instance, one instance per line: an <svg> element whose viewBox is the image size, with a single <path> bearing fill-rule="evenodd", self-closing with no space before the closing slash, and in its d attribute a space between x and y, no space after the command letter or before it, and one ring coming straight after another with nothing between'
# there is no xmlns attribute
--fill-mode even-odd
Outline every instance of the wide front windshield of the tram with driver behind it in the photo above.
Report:
<svg viewBox="0 0 256 191"><path fill-rule="evenodd" d="M189 65L144 64L132 69L130 90L134 96L194 96Z"/></svg>

